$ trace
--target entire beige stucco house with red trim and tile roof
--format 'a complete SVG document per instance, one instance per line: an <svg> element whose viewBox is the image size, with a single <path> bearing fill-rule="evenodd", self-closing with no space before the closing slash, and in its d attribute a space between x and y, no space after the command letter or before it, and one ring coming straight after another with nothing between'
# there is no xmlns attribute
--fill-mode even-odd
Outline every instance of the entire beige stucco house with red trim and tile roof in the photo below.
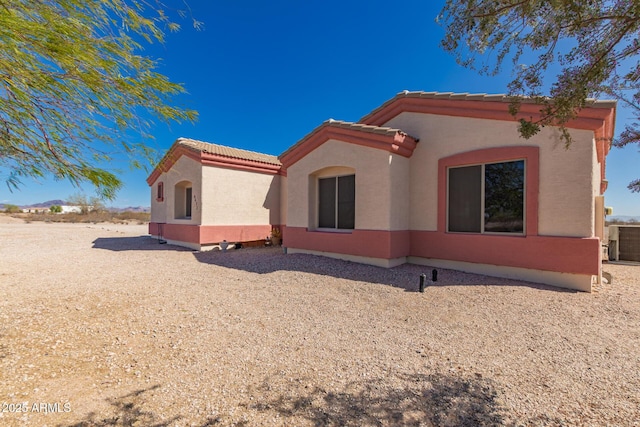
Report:
<svg viewBox="0 0 640 427"><path fill-rule="evenodd" d="M278 226L288 253L590 291L616 104L582 109L567 149L553 127L520 138L509 101L405 91L358 123L322 123L277 158L178 140L148 179L150 233L202 249ZM519 117L538 109L524 99Z"/></svg>

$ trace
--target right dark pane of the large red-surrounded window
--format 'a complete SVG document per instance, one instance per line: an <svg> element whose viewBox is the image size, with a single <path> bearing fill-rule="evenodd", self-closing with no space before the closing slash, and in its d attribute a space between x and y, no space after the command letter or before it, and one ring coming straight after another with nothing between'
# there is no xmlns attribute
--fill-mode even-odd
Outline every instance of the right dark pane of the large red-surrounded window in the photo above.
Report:
<svg viewBox="0 0 640 427"><path fill-rule="evenodd" d="M485 166L484 231L524 231L523 160Z"/></svg>

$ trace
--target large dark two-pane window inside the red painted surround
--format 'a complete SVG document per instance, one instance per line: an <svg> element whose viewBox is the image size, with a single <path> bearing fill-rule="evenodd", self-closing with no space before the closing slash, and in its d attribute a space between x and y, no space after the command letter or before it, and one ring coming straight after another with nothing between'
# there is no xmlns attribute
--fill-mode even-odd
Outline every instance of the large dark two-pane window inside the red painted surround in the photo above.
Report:
<svg viewBox="0 0 640 427"><path fill-rule="evenodd" d="M448 230L524 233L524 160L449 168Z"/></svg>

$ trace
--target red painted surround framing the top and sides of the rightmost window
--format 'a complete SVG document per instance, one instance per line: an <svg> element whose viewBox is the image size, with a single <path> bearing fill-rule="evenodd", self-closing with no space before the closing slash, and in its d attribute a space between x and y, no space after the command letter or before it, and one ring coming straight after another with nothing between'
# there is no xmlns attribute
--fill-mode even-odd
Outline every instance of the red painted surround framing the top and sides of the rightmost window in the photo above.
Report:
<svg viewBox="0 0 640 427"><path fill-rule="evenodd" d="M467 151L438 161L438 231L445 232L447 229L447 168L519 159L525 159L525 233L528 236L537 235L540 149L520 145Z"/></svg>

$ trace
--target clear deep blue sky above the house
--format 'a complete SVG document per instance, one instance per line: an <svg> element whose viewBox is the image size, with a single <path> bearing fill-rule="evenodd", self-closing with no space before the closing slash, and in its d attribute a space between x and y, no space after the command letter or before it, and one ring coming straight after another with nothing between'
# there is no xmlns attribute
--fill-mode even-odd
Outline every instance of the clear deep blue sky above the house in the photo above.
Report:
<svg viewBox="0 0 640 427"><path fill-rule="evenodd" d="M180 21L181 31L144 53L185 85L189 93L176 104L196 109L200 118L195 125L158 124L149 145L164 152L183 136L277 155L322 121L357 121L405 89L505 93L508 67L495 77L480 76L439 47L444 31L434 19L443 3L188 0L204 29ZM632 119L619 109L616 132ZM640 177L639 165L638 146L614 148L608 156L606 205L616 215L640 215L640 194L626 188ZM125 161L111 167L124 171L125 183L111 205L150 205L146 171L130 171ZM13 193L3 186L0 203L93 195L89 185L53 179L24 184Z"/></svg>

